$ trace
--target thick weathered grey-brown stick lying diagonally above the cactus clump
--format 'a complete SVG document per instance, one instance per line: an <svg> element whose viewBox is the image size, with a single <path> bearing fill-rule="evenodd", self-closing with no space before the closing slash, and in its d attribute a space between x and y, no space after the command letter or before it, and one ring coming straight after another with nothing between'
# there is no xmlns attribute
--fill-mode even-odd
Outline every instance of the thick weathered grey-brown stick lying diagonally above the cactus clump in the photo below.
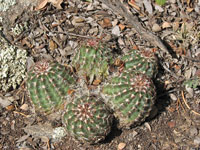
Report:
<svg viewBox="0 0 200 150"><path fill-rule="evenodd" d="M99 0L107 5L113 12L123 16L133 26L136 32L152 45L159 47L164 52L168 53L166 46L161 39L153 34L151 31L146 30L139 22L138 17L134 16L129 10L128 6L122 0Z"/></svg>

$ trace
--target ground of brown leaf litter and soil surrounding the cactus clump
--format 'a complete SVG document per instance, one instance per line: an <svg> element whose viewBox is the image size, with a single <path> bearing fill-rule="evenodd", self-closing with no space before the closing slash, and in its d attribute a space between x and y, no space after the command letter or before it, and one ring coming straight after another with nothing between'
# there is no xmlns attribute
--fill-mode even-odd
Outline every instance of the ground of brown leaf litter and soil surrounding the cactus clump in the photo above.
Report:
<svg viewBox="0 0 200 150"><path fill-rule="evenodd" d="M36 115L23 82L16 90L0 92L0 149L200 149L200 1L168 0L159 6L150 0L129 0L124 4L147 33L161 38L167 52L143 37L126 15L97 0L43 0L23 5L22 10L7 10L10 20L0 23L1 35L27 51L27 70L44 58L68 64L80 43L91 38L108 43L118 55L130 49L155 52L159 72L151 116L129 130L113 125L110 135L97 145L82 145L69 136L54 141L46 129L62 126L60 118ZM1 16L5 19L5 12Z"/></svg>

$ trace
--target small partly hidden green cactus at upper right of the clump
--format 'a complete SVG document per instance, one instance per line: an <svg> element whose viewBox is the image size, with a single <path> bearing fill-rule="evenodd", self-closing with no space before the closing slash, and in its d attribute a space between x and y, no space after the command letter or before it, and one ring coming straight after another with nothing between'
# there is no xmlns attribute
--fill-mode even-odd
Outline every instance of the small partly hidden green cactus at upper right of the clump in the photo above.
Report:
<svg viewBox="0 0 200 150"><path fill-rule="evenodd" d="M125 70L143 73L150 78L157 73L157 60L153 52L145 50L132 50L122 57L125 63Z"/></svg>

